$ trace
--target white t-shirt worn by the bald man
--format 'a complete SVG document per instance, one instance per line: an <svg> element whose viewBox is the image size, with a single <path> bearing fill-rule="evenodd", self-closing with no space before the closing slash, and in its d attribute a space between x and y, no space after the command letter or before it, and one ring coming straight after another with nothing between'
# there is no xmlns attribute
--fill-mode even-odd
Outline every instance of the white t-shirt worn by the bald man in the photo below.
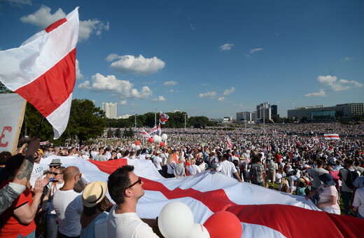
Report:
<svg viewBox="0 0 364 238"><path fill-rule="evenodd" d="M80 217L83 211L80 193L74 190L57 190L52 202L57 214L59 232L68 237L80 235Z"/></svg>

